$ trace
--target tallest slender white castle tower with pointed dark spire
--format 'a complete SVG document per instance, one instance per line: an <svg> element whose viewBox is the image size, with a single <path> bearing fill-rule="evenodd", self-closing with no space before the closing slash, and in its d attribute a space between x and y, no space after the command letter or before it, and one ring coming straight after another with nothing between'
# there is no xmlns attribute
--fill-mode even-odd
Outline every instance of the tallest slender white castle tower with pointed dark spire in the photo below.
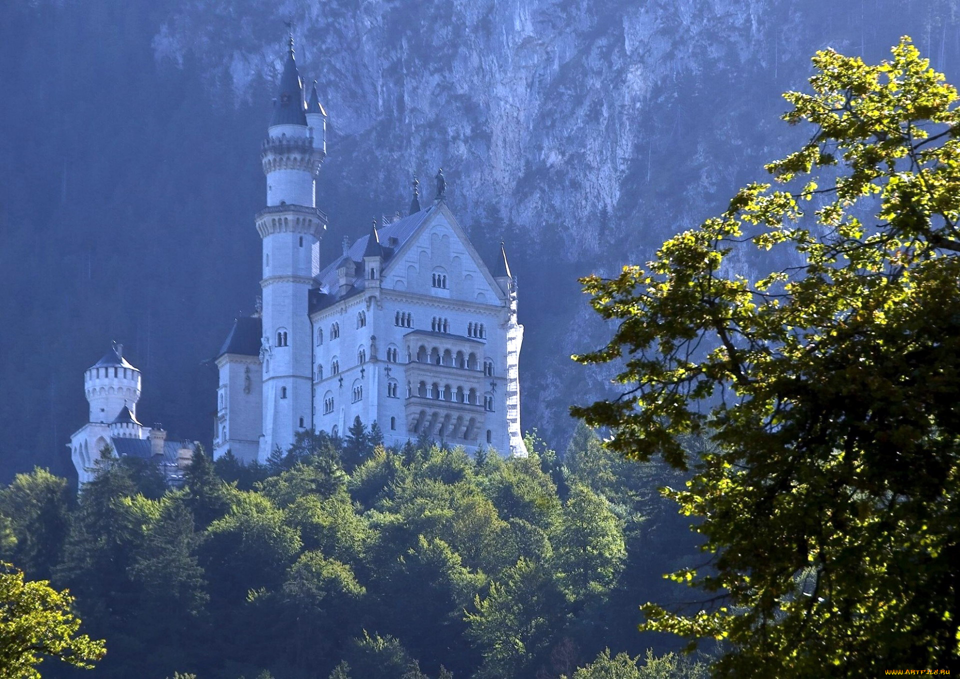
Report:
<svg viewBox="0 0 960 679"><path fill-rule="evenodd" d="M261 151L267 207L256 215L263 240L261 460L275 448L286 450L298 431L313 425L313 329L304 311L313 286L312 254L326 229L326 215L315 200L325 117L316 88L310 109L303 100L291 36Z"/></svg>

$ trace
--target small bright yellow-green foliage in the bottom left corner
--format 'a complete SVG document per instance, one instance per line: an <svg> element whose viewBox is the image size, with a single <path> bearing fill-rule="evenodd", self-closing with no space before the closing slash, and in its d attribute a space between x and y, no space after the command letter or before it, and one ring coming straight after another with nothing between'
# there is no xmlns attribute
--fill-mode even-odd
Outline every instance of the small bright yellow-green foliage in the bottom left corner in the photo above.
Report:
<svg viewBox="0 0 960 679"><path fill-rule="evenodd" d="M36 667L47 658L87 669L103 658L103 641L78 634L72 605L70 594L0 562L0 676L39 679Z"/></svg>

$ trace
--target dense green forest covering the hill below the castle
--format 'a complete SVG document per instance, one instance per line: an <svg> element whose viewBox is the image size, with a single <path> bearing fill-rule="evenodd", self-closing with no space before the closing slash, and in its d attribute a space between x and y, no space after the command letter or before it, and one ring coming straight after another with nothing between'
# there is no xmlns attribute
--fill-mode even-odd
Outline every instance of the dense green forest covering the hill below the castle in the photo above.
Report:
<svg viewBox="0 0 960 679"><path fill-rule="evenodd" d="M637 603L684 594L661 574L696 552L656 491L680 474L587 427L563 455L530 436L527 458L378 439L356 421L264 465L198 454L171 490L115 456L76 498L19 474L0 558L76 597L107 642L100 677L706 676L636 632Z"/></svg>

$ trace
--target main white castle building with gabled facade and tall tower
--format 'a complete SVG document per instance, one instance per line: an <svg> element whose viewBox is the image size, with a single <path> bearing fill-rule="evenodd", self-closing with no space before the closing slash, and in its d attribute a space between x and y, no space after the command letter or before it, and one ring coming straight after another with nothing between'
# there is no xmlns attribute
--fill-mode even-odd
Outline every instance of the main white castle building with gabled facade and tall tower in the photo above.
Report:
<svg viewBox="0 0 960 679"><path fill-rule="evenodd" d="M261 150L267 207L262 306L237 319L216 362L214 456L264 461L298 432L343 436L355 417L386 445L429 437L526 454L520 431L516 282L501 244L491 271L444 204L373 221L320 269L326 215L315 180L326 113L305 102L293 38Z"/></svg>

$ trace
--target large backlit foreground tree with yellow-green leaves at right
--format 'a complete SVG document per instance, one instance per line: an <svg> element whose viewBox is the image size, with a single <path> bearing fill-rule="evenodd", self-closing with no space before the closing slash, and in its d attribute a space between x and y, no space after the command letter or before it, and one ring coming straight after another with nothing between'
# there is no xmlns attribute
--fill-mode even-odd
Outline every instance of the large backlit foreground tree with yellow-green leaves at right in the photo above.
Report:
<svg viewBox="0 0 960 679"><path fill-rule="evenodd" d="M741 189L649 272L585 279L617 329L577 358L625 356L625 391L573 412L639 460L716 446L670 494L713 555L675 577L713 603L648 605L645 629L725 640L721 677L957 669L957 92L908 38L813 64L786 94L810 138L767 166L780 187ZM735 273L768 250L788 264Z"/></svg>

